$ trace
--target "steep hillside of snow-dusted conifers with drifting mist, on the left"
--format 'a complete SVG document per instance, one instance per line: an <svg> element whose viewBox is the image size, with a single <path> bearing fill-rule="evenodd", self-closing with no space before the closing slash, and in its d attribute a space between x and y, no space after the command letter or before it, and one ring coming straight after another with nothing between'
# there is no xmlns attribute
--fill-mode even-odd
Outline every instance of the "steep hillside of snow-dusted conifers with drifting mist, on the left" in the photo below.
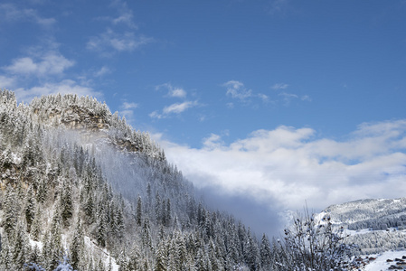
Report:
<svg viewBox="0 0 406 271"><path fill-rule="evenodd" d="M266 270L257 240L208 210L146 133L94 98L0 92L1 270ZM245 267L244 267L245 266Z"/></svg>

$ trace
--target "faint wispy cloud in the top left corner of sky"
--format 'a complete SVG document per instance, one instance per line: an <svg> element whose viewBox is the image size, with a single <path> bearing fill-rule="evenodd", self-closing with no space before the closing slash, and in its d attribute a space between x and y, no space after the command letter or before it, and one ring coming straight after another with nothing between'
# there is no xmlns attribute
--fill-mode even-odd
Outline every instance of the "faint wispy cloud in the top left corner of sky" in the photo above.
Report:
<svg viewBox="0 0 406 271"><path fill-rule="evenodd" d="M14 4L1 4L0 5L0 22L5 20L6 22L33 22L42 26L51 26L56 23L54 18L44 18L38 14L34 9L18 8Z"/></svg>

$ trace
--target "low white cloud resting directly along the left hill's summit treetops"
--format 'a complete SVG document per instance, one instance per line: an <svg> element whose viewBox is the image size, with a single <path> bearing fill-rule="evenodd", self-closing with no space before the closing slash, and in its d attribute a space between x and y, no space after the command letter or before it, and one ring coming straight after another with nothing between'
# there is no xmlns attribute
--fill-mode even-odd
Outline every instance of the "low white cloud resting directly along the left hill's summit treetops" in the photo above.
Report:
<svg viewBox="0 0 406 271"><path fill-rule="evenodd" d="M15 89L15 96L19 101L29 102L34 97L41 97L42 95L50 95L50 94L67 94L67 93L75 93L79 96L92 96L92 97L100 97L101 93L91 89L89 87L80 86L77 84L76 81L71 79L64 79L61 80L59 83L45 83L39 87L33 87L30 89Z"/></svg>

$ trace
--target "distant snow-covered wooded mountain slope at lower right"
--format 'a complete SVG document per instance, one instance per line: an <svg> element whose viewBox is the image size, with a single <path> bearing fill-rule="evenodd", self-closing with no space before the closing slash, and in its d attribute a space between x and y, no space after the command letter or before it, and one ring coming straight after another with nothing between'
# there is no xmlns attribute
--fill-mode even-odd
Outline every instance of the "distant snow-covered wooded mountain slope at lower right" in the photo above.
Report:
<svg viewBox="0 0 406 271"><path fill-rule="evenodd" d="M361 254L406 250L406 198L368 199L332 205L316 218L330 216L336 229L350 235L348 242Z"/></svg>

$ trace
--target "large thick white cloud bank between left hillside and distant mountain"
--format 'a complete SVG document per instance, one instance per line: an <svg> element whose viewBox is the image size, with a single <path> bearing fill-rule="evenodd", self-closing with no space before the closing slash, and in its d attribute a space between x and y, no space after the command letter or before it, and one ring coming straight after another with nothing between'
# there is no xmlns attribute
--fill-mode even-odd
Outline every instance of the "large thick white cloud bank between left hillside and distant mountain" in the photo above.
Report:
<svg viewBox="0 0 406 271"><path fill-rule="evenodd" d="M163 141L165 154L197 187L247 195L280 210L324 209L406 193L406 120L363 124L345 141L311 128L258 130L224 145L220 135L195 149Z"/></svg>

